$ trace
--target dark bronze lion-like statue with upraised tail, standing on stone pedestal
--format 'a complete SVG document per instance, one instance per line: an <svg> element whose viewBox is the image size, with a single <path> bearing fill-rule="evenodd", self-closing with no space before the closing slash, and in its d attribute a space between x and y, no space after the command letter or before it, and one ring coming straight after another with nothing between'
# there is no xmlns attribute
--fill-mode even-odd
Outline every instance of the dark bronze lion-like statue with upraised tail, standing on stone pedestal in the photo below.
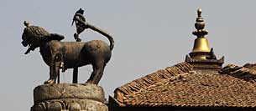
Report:
<svg viewBox="0 0 256 111"><path fill-rule="evenodd" d="M62 71L73 68L73 83L77 83L78 67L87 64L92 65L93 72L86 83L99 83L114 46L113 38L109 34L93 27L98 33L108 38L110 45L101 40L86 43L61 42L64 37L60 34L48 33L44 28L29 26L27 22L24 22L24 25L26 28L22 35L22 44L24 47L29 47L25 54L39 48L44 63L50 66L50 78L44 83L56 83L57 77L60 83L60 68Z"/></svg>

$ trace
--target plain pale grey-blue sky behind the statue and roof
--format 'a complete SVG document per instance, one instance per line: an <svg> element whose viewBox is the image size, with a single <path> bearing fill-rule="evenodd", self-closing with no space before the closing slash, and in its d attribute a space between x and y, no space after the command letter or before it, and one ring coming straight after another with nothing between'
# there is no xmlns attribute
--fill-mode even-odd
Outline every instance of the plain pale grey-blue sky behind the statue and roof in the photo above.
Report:
<svg viewBox="0 0 256 111"><path fill-rule="evenodd" d="M33 89L49 78L39 48L24 55L24 20L64 35L64 41L75 41L71 22L76 10L83 8L88 23L110 33L115 47L98 84L108 98L124 83L185 61L196 38L191 33L197 8L202 9L209 45L217 58L225 57L224 65L255 63L255 4L253 0L0 0L0 106L9 111L29 110L34 104ZM108 43L90 29L81 39ZM85 83L91 71L90 65L79 68L79 83ZM60 83L71 83L71 79L71 69L60 73Z"/></svg>

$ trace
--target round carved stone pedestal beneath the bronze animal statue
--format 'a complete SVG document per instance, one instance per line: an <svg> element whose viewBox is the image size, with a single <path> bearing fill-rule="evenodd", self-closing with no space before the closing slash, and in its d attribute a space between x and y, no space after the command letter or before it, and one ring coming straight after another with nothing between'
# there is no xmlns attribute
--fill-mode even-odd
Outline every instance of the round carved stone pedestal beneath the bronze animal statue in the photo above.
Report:
<svg viewBox="0 0 256 111"><path fill-rule="evenodd" d="M44 84L34 88L31 111L107 111L102 87L85 83Z"/></svg>

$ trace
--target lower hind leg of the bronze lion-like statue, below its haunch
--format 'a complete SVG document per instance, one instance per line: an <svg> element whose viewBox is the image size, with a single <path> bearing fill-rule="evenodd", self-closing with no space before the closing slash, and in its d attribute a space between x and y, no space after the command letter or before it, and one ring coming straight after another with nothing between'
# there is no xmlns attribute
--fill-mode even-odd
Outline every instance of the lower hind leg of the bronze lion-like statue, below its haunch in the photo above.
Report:
<svg viewBox="0 0 256 111"><path fill-rule="evenodd" d="M91 76L86 83L97 84L102 78L104 63L98 62L96 64L92 64L92 68L93 68L93 72L91 73Z"/></svg>

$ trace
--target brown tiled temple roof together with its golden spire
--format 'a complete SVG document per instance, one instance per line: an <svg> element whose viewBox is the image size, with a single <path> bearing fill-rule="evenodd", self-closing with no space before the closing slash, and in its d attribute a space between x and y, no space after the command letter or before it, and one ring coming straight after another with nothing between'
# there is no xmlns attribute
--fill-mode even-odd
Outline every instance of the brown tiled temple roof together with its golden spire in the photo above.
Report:
<svg viewBox="0 0 256 111"><path fill-rule="evenodd" d="M222 68L197 10L194 47L184 63L161 69L116 88L109 103L118 107L256 108L256 64Z"/></svg>

